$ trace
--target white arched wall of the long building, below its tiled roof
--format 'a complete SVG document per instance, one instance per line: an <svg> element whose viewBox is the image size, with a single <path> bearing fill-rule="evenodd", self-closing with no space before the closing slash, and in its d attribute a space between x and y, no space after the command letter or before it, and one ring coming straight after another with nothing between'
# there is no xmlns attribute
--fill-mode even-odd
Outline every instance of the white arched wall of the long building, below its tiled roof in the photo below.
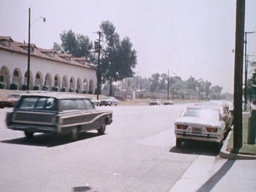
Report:
<svg viewBox="0 0 256 192"><path fill-rule="evenodd" d="M0 50L0 76L4 75L6 88L10 88L12 82L19 81L18 84L21 89L21 86L26 84L25 74L27 67L28 57L26 55ZM19 77L14 76L15 69L19 72ZM40 74L40 79L36 79L37 73ZM49 80L45 80L46 74L50 77ZM63 77L65 77L67 81L67 90L70 87L76 90L77 82L79 82L80 92L82 92L83 89L87 89L88 92L88 89L91 88L91 91L94 93L97 84L96 70L44 60L33 56L30 57L30 90L32 90L36 84L40 84L42 89L45 83L52 89L55 85L55 76L58 78L57 85L60 89L62 88ZM70 83L71 78L73 83ZM86 84L84 84L84 81ZM90 82L91 86L89 86Z"/></svg>

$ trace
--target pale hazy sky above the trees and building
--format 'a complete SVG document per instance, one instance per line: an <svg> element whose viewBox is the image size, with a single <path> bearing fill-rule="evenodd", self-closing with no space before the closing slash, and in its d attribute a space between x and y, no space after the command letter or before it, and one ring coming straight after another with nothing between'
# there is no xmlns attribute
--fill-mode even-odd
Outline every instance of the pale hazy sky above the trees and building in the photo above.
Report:
<svg viewBox="0 0 256 192"><path fill-rule="evenodd" d="M60 44L59 34L72 29L96 40L103 20L128 36L138 52L135 71L142 77L167 73L190 75L234 89L236 0L0 0L0 36L40 48ZM246 0L246 31L256 31L256 0ZM256 55L256 33L248 34L248 54ZM256 60L256 57L250 57Z"/></svg>

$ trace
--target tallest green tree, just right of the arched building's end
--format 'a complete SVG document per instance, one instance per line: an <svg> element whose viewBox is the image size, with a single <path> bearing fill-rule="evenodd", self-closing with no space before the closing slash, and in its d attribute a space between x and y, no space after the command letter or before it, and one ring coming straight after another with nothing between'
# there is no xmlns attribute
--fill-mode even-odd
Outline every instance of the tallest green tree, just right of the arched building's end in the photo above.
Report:
<svg viewBox="0 0 256 192"><path fill-rule="evenodd" d="M112 83L133 77L132 69L137 64L136 50L132 49L132 43L128 37L119 39L114 24L110 21L103 21L100 25L103 32L101 59L101 74L103 82L110 84L109 95L112 95Z"/></svg>

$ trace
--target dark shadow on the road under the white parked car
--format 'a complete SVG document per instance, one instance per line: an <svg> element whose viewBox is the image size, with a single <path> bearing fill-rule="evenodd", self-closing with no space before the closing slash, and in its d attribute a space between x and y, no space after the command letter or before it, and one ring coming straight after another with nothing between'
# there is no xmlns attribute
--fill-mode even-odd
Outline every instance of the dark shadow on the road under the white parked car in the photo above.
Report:
<svg viewBox="0 0 256 192"><path fill-rule="evenodd" d="M177 148L172 147L169 152L172 153L183 153L183 154L196 154L206 156L218 156L220 150L216 148L214 143L200 142L200 141L187 141L182 142L182 146Z"/></svg>

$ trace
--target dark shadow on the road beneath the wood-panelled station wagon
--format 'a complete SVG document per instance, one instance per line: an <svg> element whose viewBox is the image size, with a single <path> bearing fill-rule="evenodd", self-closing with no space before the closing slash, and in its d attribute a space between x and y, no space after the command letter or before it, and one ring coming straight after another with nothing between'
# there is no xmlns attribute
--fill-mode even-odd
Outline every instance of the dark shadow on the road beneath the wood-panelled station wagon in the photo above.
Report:
<svg viewBox="0 0 256 192"><path fill-rule="evenodd" d="M75 141L70 141L66 135L56 136L54 134L37 134L33 138L27 139L26 137L16 138L11 140L0 141L2 143L18 144L18 145L34 145L34 146L45 146L45 147L55 147L59 145L68 144L71 142L76 142L79 140L86 140L100 136L96 132L83 132L79 134L79 138Z"/></svg>

